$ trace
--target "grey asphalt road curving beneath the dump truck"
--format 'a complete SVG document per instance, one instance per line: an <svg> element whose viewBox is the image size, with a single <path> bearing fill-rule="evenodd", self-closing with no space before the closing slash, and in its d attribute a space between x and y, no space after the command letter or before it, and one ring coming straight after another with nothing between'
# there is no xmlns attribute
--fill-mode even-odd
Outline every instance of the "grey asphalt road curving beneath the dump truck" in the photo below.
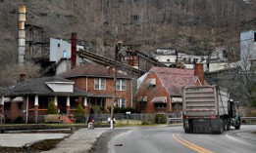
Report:
<svg viewBox="0 0 256 153"><path fill-rule="evenodd" d="M107 146L101 146L97 152L254 153L255 141L235 136L253 130L256 130L256 126L244 125L239 131L231 129L223 134L184 134L182 127L124 130L121 134L108 137Z"/></svg>

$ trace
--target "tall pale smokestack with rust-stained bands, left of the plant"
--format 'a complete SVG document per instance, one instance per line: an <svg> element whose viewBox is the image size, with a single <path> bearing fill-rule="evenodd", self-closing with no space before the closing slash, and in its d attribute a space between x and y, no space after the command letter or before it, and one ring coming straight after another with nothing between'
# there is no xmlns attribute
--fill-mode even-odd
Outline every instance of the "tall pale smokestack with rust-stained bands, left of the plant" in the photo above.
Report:
<svg viewBox="0 0 256 153"><path fill-rule="evenodd" d="M26 6L19 5L19 22L18 22L18 31L19 31L19 40L18 40L18 63L24 64L25 57L25 46L26 46Z"/></svg>

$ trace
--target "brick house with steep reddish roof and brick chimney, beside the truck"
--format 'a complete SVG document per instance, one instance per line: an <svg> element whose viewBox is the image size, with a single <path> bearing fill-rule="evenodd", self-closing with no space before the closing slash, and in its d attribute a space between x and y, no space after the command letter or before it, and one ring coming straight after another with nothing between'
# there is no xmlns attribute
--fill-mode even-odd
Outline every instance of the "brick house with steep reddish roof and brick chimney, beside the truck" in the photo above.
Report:
<svg viewBox="0 0 256 153"><path fill-rule="evenodd" d="M135 96L136 109L141 113L181 111L181 88L204 84L203 65L194 69L152 67L144 76Z"/></svg>

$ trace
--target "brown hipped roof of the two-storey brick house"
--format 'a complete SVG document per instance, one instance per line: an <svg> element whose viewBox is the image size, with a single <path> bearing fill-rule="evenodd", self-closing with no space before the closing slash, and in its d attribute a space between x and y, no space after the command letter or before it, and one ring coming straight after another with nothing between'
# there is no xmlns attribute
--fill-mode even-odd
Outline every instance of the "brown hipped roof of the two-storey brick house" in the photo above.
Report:
<svg viewBox="0 0 256 153"><path fill-rule="evenodd" d="M86 63L84 65L75 67L67 72L59 74L58 76L63 78L74 78L74 77L104 77L104 78L113 78L113 74L110 73L109 68L96 64L96 63ZM127 78L130 77L127 74L118 72L118 78Z"/></svg>

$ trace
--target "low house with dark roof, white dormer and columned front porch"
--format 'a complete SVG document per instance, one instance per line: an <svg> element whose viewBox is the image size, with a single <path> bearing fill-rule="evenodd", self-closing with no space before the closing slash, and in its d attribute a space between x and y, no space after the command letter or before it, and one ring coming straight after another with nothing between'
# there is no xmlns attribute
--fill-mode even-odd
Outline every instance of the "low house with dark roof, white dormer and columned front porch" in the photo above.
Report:
<svg viewBox="0 0 256 153"><path fill-rule="evenodd" d="M48 114L48 103L53 100L62 114L74 114L79 102L86 105L88 93L74 87L74 82L58 78L33 78L7 88L2 98L1 112L11 121L23 117L26 123L42 123ZM70 120L69 120L70 121Z"/></svg>

